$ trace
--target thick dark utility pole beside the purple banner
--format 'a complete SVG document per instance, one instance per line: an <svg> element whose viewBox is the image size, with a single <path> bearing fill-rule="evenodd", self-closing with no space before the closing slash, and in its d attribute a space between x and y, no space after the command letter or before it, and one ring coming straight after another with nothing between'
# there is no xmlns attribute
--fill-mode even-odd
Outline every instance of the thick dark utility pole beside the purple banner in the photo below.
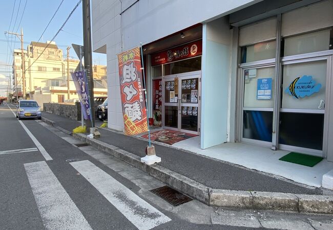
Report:
<svg viewBox="0 0 333 230"><path fill-rule="evenodd" d="M83 19L83 35L84 35L84 58L85 69L88 79L89 100L91 108L92 121L86 121L86 127L95 127L95 112L94 112L94 78L92 71L92 48L91 48L91 20L90 20L90 0L82 1L82 19Z"/></svg>

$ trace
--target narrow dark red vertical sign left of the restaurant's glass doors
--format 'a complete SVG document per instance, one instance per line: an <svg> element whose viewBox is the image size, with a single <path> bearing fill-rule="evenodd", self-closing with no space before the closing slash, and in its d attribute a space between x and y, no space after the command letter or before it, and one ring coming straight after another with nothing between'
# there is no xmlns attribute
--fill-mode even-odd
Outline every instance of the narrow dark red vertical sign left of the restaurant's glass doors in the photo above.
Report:
<svg viewBox="0 0 333 230"><path fill-rule="evenodd" d="M153 80L153 123L162 126L162 79Z"/></svg>

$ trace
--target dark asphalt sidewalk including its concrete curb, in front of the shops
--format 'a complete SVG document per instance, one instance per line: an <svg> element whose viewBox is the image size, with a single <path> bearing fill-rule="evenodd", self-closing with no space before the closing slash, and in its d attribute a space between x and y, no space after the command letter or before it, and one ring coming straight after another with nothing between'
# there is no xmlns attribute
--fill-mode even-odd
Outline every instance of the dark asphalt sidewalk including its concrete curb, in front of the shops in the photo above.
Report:
<svg viewBox="0 0 333 230"><path fill-rule="evenodd" d="M79 124L46 112L42 120L67 133ZM140 160L147 140L108 128L99 128L99 132L99 139L89 139L87 133L73 136L209 206L333 214L332 191L160 143L154 145L162 162L148 166Z"/></svg>

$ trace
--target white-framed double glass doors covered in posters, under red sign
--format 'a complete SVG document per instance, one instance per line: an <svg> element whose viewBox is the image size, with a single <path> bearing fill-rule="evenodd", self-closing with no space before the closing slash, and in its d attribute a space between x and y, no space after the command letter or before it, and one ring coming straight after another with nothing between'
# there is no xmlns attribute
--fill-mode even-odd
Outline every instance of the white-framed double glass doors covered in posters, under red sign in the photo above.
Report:
<svg viewBox="0 0 333 230"><path fill-rule="evenodd" d="M186 73L163 78L163 128L199 133L200 77Z"/></svg>

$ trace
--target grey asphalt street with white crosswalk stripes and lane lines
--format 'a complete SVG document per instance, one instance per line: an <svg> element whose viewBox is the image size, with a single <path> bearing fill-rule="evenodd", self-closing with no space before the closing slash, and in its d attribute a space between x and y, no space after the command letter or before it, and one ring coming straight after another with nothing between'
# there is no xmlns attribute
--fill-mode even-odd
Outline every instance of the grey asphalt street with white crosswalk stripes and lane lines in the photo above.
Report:
<svg viewBox="0 0 333 230"><path fill-rule="evenodd" d="M0 107L1 229L331 226L331 216L225 210L197 200L173 206L149 191L162 182L43 121L18 121L14 109Z"/></svg>

